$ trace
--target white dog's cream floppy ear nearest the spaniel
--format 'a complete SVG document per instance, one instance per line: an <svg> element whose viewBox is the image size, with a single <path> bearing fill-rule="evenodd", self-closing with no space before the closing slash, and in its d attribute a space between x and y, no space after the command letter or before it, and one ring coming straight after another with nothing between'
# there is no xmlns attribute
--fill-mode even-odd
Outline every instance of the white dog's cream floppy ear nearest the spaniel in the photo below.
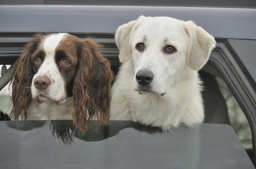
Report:
<svg viewBox="0 0 256 169"><path fill-rule="evenodd" d="M124 63L127 62L132 54L130 47L130 39L135 26L138 25L138 20L128 22L121 25L116 30L115 39L116 45L119 49L119 60Z"/></svg>

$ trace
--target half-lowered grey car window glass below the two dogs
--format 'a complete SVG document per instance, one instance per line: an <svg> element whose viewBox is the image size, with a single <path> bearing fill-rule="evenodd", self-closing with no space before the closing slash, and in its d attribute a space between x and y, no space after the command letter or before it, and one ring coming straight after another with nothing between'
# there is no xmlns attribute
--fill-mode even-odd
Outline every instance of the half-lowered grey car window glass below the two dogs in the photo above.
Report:
<svg viewBox="0 0 256 169"><path fill-rule="evenodd" d="M72 121L3 121L0 127L0 168L254 168L228 125L162 133L110 121L84 136Z"/></svg>

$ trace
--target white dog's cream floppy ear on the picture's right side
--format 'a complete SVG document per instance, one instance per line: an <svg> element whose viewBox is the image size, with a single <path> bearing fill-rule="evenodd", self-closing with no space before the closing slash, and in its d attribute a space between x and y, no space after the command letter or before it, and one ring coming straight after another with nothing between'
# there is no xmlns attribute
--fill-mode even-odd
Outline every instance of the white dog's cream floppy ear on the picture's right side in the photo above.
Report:
<svg viewBox="0 0 256 169"><path fill-rule="evenodd" d="M185 22L183 26L189 37L188 66L193 70L199 70L209 59L216 41L212 35L192 21Z"/></svg>

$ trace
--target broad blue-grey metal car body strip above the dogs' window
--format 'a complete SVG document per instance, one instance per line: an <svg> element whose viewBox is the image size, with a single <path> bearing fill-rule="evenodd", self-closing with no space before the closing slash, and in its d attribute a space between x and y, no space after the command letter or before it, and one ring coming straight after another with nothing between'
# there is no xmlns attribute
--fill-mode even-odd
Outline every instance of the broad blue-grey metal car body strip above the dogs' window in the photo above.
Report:
<svg viewBox="0 0 256 169"><path fill-rule="evenodd" d="M140 15L193 20L216 39L256 39L256 9L152 6L0 6L0 33L114 34Z"/></svg>

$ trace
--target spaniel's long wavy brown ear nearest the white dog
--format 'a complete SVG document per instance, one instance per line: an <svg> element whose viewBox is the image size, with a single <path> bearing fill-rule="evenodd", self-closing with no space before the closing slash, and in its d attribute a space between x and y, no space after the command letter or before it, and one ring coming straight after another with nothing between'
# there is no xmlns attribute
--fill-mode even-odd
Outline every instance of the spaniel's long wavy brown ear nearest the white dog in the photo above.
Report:
<svg viewBox="0 0 256 169"><path fill-rule="evenodd" d="M101 46L84 39L79 48L79 65L73 87L73 120L84 133L87 124L99 120L107 122L110 106L110 88L113 74L110 63L99 52Z"/></svg>

